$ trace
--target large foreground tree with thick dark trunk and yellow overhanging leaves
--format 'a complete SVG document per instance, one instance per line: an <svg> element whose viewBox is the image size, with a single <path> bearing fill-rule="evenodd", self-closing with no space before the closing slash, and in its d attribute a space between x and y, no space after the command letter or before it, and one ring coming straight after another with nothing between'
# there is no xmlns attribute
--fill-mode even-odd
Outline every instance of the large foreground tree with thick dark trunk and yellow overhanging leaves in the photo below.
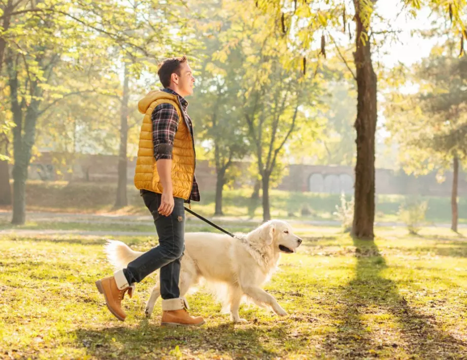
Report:
<svg viewBox="0 0 467 360"><path fill-rule="evenodd" d="M314 35L321 35L320 54L326 54L326 36L330 38L340 53L340 49L333 40L333 33L338 28L349 32L353 37L355 47L353 52L354 67L349 70L357 84L357 115L355 120L357 158L355 165L355 205L352 234L360 238L374 237L375 218L375 132L377 124L377 76L373 69L372 49L386 37L389 31L372 32L372 23L376 16L383 19L386 29L390 29L384 14L375 13L377 0L353 0L353 13L345 3L338 1L308 2L307 0L273 0L256 1L256 6L274 16L275 21L270 23L279 32L288 36L288 41L296 45L300 51L297 56L286 59L287 63L298 64L300 57L307 57L313 44ZM449 13L457 34L465 32L462 23L462 13L465 0L453 0L449 3L443 0L404 0L404 9L408 8L410 14L416 15L416 10L422 6L429 6L435 12ZM351 29L347 19L352 18L354 28ZM342 19L342 21L341 21ZM348 26L349 25L349 26ZM294 34L294 36L290 36ZM467 34L467 33L465 33ZM308 50L308 51L307 51Z"/></svg>

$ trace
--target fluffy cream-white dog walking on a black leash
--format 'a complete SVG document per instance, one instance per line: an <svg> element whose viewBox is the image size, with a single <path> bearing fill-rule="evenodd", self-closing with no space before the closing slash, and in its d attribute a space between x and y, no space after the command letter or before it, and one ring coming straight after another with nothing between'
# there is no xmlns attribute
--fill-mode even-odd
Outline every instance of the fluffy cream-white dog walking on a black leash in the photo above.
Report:
<svg viewBox="0 0 467 360"><path fill-rule="evenodd" d="M181 262L180 296L204 278L208 284L224 285L225 294L218 297L229 309L234 322L246 322L239 316L242 297L246 295L256 305L270 307L280 316L287 313L274 296L260 286L269 280L277 267L280 253L295 253L302 239L294 235L289 224L272 220L246 235L232 238L229 235L210 232L185 234L185 253ZM119 241L108 241L107 258L116 268L123 268L143 254L131 250ZM150 317L160 296L159 285L154 286L146 304L146 316Z"/></svg>

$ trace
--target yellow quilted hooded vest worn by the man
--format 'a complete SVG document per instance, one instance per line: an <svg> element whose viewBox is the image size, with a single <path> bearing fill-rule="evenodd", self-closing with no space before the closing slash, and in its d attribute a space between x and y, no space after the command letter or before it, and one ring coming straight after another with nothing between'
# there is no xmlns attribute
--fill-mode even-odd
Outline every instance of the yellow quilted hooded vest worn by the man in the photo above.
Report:
<svg viewBox="0 0 467 360"><path fill-rule="evenodd" d="M188 200L193 185L195 167L194 143L188 122L180 108L178 97L163 91L152 91L138 103L138 110L144 114L144 118L136 160L135 186L138 190L145 189L162 194L163 188L154 158L151 121L152 111L162 103L174 105L180 119L172 153L172 184L174 196Z"/></svg>

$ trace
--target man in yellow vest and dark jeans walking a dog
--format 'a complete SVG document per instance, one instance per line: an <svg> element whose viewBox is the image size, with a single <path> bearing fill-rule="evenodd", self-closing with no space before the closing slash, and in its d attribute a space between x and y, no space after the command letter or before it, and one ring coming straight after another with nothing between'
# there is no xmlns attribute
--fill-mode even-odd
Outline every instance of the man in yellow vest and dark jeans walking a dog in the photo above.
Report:
<svg viewBox="0 0 467 360"><path fill-rule="evenodd" d="M191 317L186 299L180 297L180 261L185 233L184 202L199 201L194 177L193 127L185 97L193 94L194 77L187 58L169 58L157 72L163 85L138 103L145 114L141 127L135 186L154 218L159 246L131 261L114 276L96 281L107 307L119 320L125 292L132 294L134 283L160 268L162 325L202 325L201 317Z"/></svg>

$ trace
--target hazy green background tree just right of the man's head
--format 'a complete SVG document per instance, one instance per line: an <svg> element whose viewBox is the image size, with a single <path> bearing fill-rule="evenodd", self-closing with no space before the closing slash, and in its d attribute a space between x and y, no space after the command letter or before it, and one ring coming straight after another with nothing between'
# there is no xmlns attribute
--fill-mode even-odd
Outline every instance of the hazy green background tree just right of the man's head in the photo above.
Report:
<svg viewBox="0 0 467 360"><path fill-rule="evenodd" d="M197 28L204 34L204 49L198 52L203 63L196 76L190 113L196 122L202 124L203 129L197 138L205 144L205 152L216 168L214 215L223 215L222 192L233 170L233 161L241 160L250 149L242 113L243 99L239 96L245 56L240 48L231 49L223 61L216 56L219 48L235 37L228 36L233 25L228 7L222 7L218 2L212 5L214 14L197 23ZM219 21L222 21L222 35L215 36L219 33Z"/></svg>

